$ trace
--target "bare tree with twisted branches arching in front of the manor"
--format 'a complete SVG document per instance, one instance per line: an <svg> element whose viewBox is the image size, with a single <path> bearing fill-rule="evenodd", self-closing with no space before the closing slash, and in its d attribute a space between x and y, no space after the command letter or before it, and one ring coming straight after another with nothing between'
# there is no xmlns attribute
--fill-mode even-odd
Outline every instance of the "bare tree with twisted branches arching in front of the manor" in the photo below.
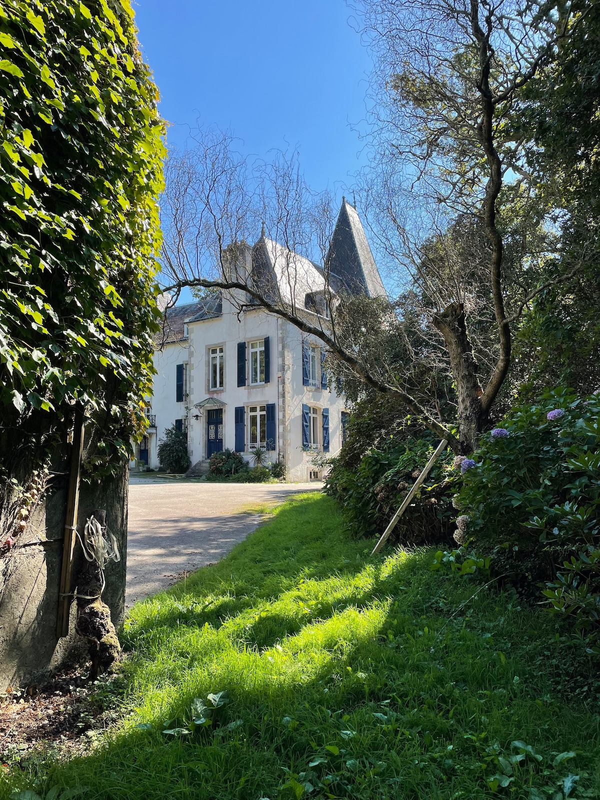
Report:
<svg viewBox="0 0 600 800"><path fill-rule="evenodd" d="M394 274L410 276L421 346L399 346L387 362L374 357L379 334L406 339L406 317L373 301L381 328L362 330L353 314L362 301L336 291L326 261L330 196L308 190L294 158L250 165L227 135L198 134L167 164L166 290L218 287L241 298L240 307L258 304L288 319L321 338L342 373L394 393L455 452L467 453L506 380L510 315L518 318L535 296L552 238L533 212L521 242L518 221L510 227L510 214L530 214L524 142L513 134L520 93L559 57L577 17L560 2L532 0L364 0L356 10L375 63L362 204ZM269 242L285 248L286 290L266 288L232 257L230 246L252 241L261 225ZM328 314L298 304L306 264L294 253L320 254ZM420 361L449 371L450 417L440 413L429 380L415 378Z"/></svg>

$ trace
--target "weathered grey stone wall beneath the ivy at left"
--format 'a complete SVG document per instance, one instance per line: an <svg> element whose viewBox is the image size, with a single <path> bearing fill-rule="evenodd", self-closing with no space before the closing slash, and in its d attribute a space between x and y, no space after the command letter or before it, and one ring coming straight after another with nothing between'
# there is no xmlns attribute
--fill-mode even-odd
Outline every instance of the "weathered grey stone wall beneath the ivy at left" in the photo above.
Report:
<svg viewBox="0 0 600 800"><path fill-rule="evenodd" d="M62 564L62 538L68 476L59 475L45 501L38 506L19 545L0 558L0 692L7 686L39 682L66 662L85 658L82 639L75 633L75 603L70 633L58 639L56 622ZM102 599L110 607L117 630L125 614L128 475L124 465L113 478L87 485L79 496L78 530L96 509L106 509L106 522L117 538L120 562L106 566ZM83 561L75 546L74 581Z"/></svg>

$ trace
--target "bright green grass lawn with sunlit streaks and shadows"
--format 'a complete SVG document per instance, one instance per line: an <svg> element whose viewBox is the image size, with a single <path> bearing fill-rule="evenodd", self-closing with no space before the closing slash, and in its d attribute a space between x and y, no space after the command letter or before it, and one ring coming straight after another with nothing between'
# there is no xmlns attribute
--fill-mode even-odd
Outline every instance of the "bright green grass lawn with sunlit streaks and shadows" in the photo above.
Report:
<svg viewBox="0 0 600 800"><path fill-rule="evenodd" d="M46 786L106 800L600 796L585 648L514 596L431 572L430 551L371 547L330 498L301 495L135 606L126 716Z"/></svg>

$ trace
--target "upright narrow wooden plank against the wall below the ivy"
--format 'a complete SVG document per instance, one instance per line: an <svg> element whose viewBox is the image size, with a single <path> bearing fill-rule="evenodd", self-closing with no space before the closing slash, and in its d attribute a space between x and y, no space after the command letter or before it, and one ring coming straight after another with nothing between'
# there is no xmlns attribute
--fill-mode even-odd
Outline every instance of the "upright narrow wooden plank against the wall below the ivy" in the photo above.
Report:
<svg viewBox="0 0 600 800"><path fill-rule="evenodd" d="M62 638L69 633L69 615L71 608L71 577L73 573L73 553L75 549L75 527L79 507L79 478L82 472L83 454L83 409L77 406L73 422L73 448L69 473L69 490L66 497L65 533L62 539L61 582L58 589L58 619L56 635Z"/></svg>

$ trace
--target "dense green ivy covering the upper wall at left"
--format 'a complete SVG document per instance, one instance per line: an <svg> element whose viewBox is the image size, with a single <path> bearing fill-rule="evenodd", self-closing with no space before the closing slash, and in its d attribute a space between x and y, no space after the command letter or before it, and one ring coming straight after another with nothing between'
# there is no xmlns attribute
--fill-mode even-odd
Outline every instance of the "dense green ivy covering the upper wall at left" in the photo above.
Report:
<svg viewBox="0 0 600 800"><path fill-rule="evenodd" d="M158 319L156 102L129 2L0 4L5 447L10 431L47 432L80 402L96 430L88 469L110 469L143 424Z"/></svg>

